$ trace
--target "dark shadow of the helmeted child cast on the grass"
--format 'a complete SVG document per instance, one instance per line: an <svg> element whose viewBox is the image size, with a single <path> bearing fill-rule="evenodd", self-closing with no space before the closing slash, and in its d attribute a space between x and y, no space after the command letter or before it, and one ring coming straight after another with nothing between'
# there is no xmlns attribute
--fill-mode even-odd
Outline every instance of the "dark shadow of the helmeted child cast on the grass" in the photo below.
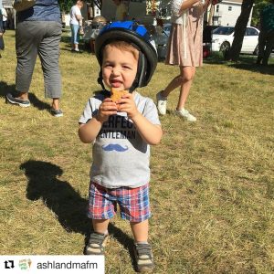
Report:
<svg viewBox="0 0 274 274"><path fill-rule="evenodd" d="M85 235L85 244L88 243L91 226L86 216L87 199L82 198L68 182L58 177L63 170L56 164L29 160L20 165L25 170L28 184L26 198L31 201L42 199L47 207L58 217L58 221L68 232L77 232ZM120 228L110 224L110 234L121 245L128 249L133 258L133 240L121 231Z"/></svg>

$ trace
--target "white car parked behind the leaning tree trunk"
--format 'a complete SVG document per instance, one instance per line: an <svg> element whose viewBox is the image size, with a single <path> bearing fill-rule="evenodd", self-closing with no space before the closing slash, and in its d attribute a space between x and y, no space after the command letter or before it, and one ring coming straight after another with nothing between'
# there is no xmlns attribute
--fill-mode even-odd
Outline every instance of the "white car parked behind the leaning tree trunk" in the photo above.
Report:
<svg viewBox="0 0 274 274"><path fill-rule="evenodd" d="M234 30L234 26L217 27L212 33L212 51L227 51L232 46ZM247 27L241 53L258 55L258 34L258 28Z"/></svg>

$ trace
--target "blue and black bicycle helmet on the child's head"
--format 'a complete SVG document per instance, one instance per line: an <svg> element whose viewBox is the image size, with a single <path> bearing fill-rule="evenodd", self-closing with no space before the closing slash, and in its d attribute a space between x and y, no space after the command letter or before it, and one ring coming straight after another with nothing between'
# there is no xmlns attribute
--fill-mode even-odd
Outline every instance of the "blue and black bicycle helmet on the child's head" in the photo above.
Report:
<svg viewBox="0 0 274 274"><path fill-rule="evenodd" d="M102 63L103 48L112 41L117 40L128 42L139 50L137 74L130 92L138 87L145 87L152 79L158 61L152 37L144 26L138 25L133 21L116 21L104 26L95 40L95 55L100 66ZM98 82L102 89L105 90L101 69Z"/></svg>

